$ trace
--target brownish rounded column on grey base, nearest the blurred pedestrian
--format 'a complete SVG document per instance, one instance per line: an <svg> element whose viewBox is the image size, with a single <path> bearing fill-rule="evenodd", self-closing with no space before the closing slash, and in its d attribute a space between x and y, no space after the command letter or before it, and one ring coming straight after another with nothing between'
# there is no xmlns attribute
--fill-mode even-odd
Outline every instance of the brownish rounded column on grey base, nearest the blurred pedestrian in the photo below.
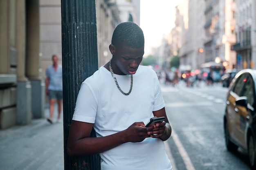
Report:
<svg viewBox="0 0 256 170"><path fill-rule="evenodd" d="M39 0L26 0L26 70L31 82L31 112L33 118L45 117L45 81L39 68Z"/></svg>

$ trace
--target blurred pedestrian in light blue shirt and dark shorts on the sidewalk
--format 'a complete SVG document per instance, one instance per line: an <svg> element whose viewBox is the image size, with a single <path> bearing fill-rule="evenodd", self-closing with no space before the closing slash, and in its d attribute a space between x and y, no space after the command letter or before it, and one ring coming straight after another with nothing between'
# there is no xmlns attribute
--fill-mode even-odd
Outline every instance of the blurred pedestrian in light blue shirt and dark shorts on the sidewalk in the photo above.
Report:
<svg viewBox="0 0 256 170"><path fill-rule="evenodd" d="M48 66L45 71L45 93L49 96L49 112L50 116L47 118L49 123L53 124L54 104L57 100L58 117L57 123L61 122L61 109L63 99L62 89L62 65L58 64L58 56L52 55L53 64Z"/></svg>

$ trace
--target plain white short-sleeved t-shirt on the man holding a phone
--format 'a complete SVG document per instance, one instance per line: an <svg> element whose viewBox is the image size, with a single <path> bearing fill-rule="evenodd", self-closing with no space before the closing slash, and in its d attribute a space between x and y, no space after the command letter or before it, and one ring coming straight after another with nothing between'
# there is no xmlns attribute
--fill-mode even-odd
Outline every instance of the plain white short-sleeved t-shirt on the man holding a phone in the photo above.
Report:
<svg viewBox="0 0 256 170"><path fill-rule="evenodd" d="M125 93L130 89L130 75L116 75ZM94 124L97 137L127 129L134 122L146 125L153 111L164 108L160 84L155 71L139 66L133 75L130 95L117 88L110 71L101 66L81 84L73 120ZM146 138L139 143L128 142L100 154L101 170L171 170L164 142Z"/></svg>

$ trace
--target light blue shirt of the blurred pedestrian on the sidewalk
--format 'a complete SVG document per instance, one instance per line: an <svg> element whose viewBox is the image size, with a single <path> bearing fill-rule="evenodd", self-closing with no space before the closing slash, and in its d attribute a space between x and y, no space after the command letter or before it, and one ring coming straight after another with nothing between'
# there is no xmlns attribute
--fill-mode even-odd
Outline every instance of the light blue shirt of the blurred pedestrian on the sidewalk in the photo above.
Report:
<svg viewBox="0 0 256 170"><path fill-rule="evenodd" d="M56 71L53 65L46 68L46 77L49 78L48 90L52 91L62 91L62 65L58 64Z"/></svg>

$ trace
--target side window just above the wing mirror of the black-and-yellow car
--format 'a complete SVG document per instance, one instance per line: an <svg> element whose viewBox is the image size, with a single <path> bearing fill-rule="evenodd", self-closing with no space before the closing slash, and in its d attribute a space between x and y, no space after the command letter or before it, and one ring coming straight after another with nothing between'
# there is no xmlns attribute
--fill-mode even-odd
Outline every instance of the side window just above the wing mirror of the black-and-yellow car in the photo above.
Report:
<svg viewBox="0 0 256 170"><path fill-rule="evenodd" d="M253 106L254 103L254 82L252 77L247 77L242 96L246 96L248 103Z"/></svg>

